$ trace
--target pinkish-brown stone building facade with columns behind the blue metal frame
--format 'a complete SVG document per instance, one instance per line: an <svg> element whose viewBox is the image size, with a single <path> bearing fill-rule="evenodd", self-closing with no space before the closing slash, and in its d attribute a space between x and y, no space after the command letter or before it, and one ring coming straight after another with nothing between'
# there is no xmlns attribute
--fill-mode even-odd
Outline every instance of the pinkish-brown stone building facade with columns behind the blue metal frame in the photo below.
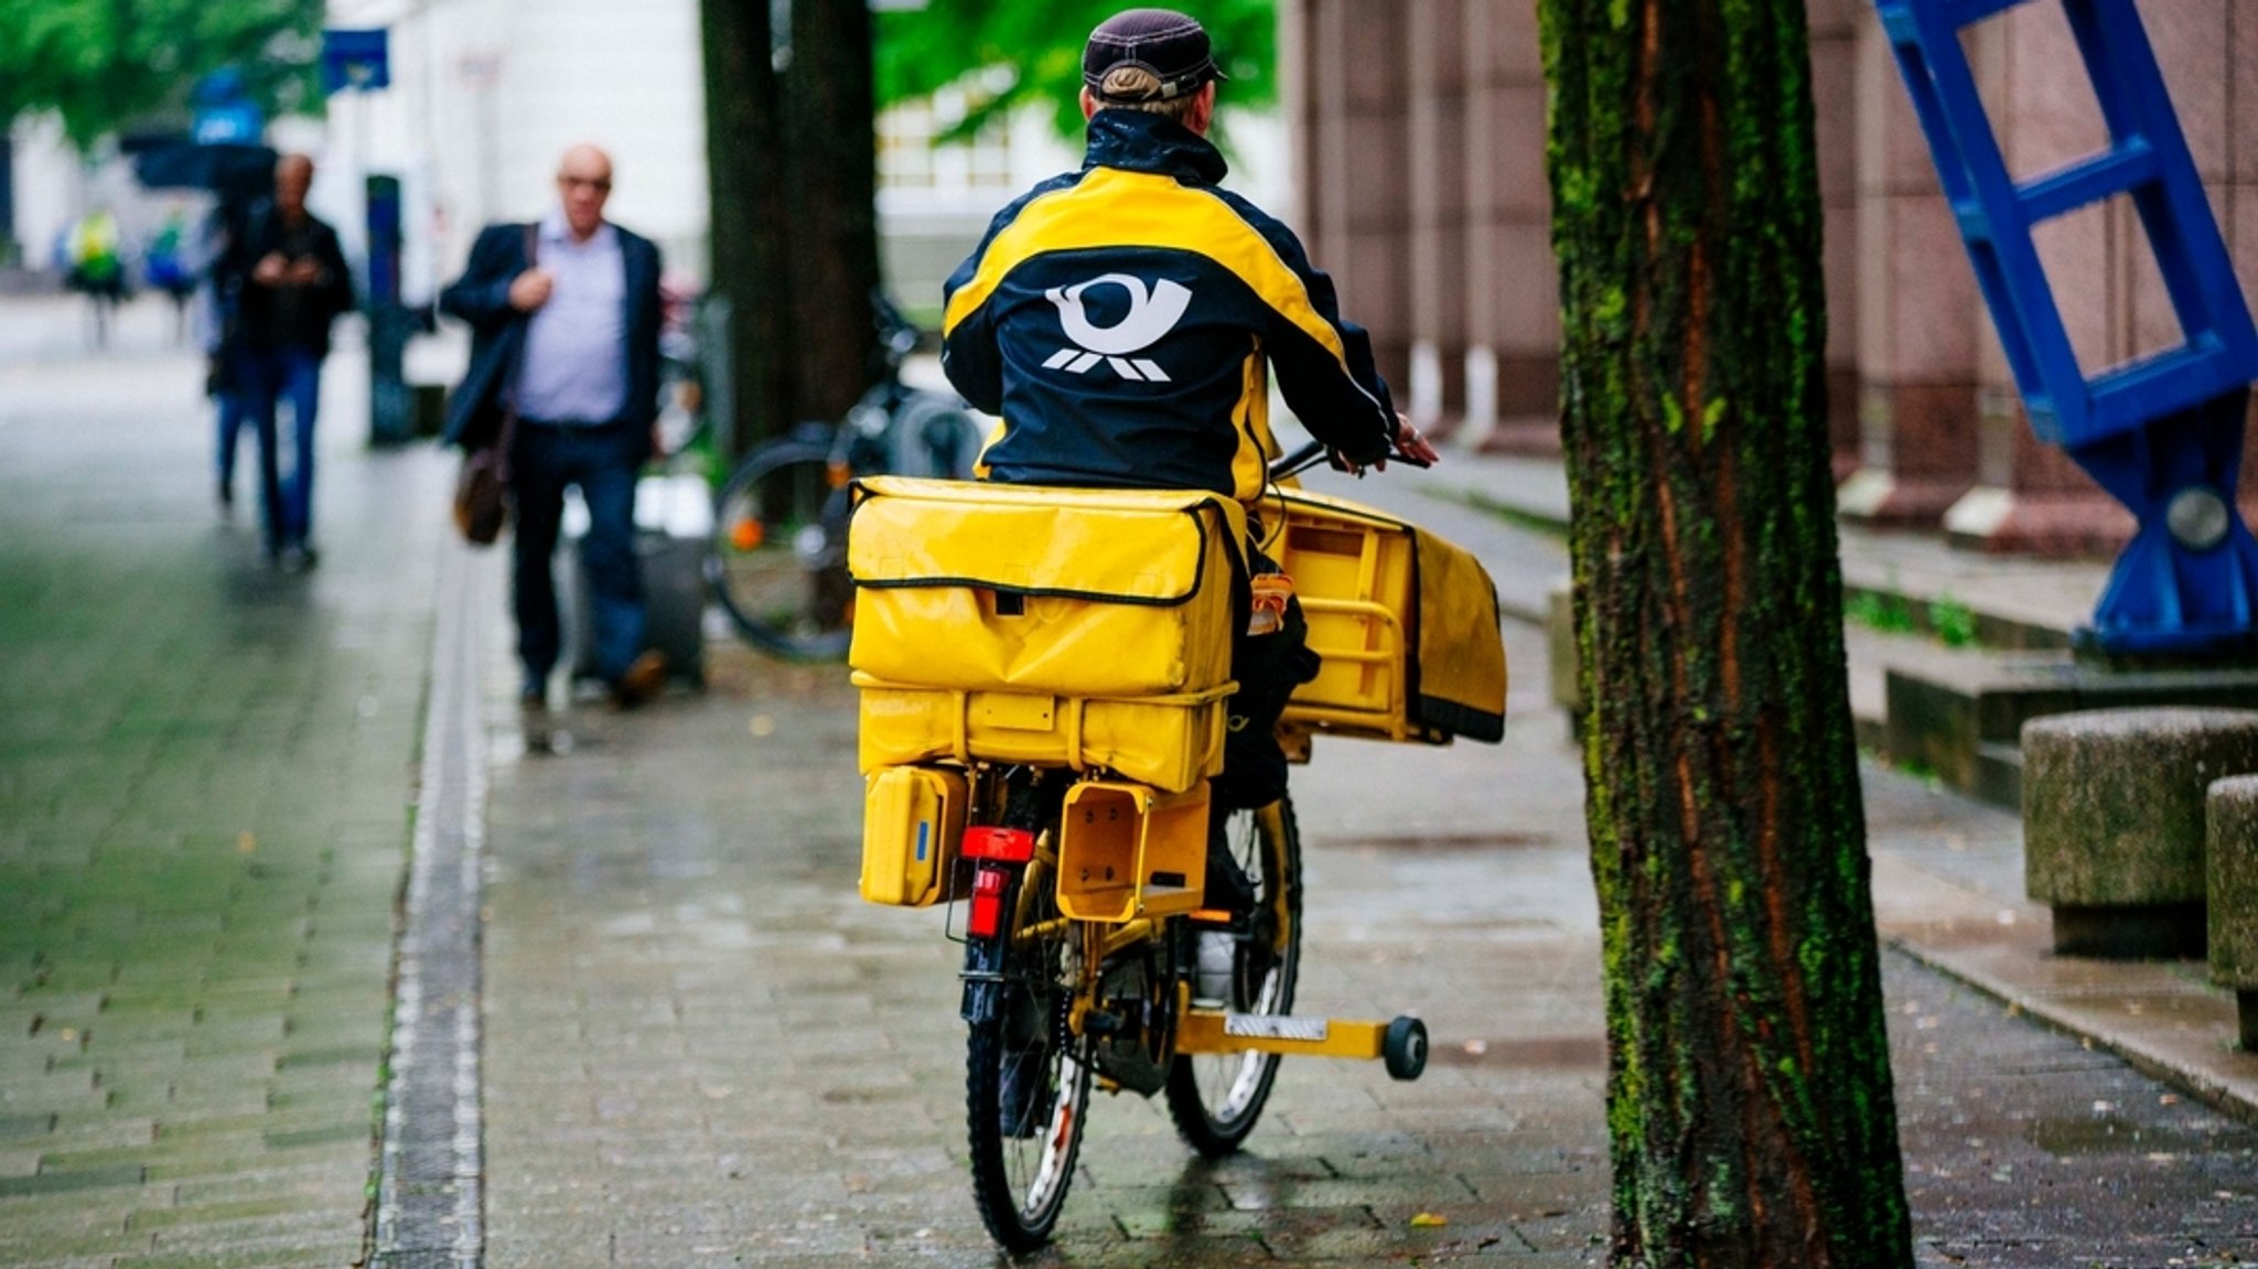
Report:
<svg viewBox="0 0 2258 1269"><path fill-rule="evenodd" d="M1312 248L1416 418L1556 449L1558 278L1535 0L1283 0ZM1829 431L1847 517L1985 549L2109 551L2132 517L2032 438L1872 0L1809 0L1824 203ZM2249 291L2258 280L2258 9L2141 14ZM2104 147L2062 7L1969 32L2010 169ZM2086 373L2179 343L2129 199L2039 253ZM2253 470L2244 461L2244 506Z"/></svg>

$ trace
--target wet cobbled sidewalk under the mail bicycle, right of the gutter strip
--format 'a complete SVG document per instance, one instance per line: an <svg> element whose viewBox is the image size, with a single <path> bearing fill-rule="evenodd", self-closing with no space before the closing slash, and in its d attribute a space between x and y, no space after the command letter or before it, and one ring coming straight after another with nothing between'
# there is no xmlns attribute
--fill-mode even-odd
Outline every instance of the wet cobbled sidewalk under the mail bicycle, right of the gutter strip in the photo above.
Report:
<svg viewBox="0 0 2258 1269"><path fill-rule="evenodd" d="M1301 1007L1425 1016L1427 1077L1289 1061L1217 1165L1158 1106L1097 1097L1039 1264L1605 1262L1583 786L1538 634L1508 625L1508 648L1504 747L1332 743L1296 777ZM709 695L583 714L571 754L495 770L488 1262L998 1264L964 1165L957 948L939 912L856 896L842 675L714 653ZM1870 784L1892 849L1953 849L1955 802ZM2258 1134L1901 955L1885 987L1924 1267L2258 1251Z"/></svg>

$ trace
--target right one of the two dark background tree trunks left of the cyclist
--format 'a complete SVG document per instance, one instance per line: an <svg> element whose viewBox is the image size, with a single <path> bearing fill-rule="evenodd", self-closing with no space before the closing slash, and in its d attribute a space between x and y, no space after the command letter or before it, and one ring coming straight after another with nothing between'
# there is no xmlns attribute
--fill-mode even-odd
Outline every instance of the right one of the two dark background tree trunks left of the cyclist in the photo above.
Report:
<svg viewBox="0 0 2258 1269"><path fill-rule="evenodd" d="M874 382L878 142L867 0L793 0L793 348L797 418L838 420Z"/></svg>

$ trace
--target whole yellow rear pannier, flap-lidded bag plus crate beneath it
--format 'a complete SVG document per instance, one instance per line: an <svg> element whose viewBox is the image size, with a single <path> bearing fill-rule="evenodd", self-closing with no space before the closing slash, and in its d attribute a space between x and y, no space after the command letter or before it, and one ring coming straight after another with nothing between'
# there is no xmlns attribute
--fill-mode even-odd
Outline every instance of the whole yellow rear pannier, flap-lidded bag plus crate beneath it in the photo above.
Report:
<svg viewBox="0 0 2258 1269"><path fill-rule="evenodd" d="M1213 492L860 481L863 770L1052 761L1197 786L1222 770L1242 537Z"/></svg>

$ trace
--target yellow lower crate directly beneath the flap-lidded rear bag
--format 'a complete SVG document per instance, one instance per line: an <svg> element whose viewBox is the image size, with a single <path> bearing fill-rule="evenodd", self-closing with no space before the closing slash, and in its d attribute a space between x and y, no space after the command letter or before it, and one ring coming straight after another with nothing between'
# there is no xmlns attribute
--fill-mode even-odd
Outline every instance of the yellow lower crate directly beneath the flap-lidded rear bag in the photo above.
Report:
<svg viewBox="0 0 2258 1269"><path fill-rule="evenodd" d="M1237 684L1179 695L1091 698L964 691L856 673L865 772L955 759L1109 770L1183 793L1224 770L1224 698Z"/></svg>

